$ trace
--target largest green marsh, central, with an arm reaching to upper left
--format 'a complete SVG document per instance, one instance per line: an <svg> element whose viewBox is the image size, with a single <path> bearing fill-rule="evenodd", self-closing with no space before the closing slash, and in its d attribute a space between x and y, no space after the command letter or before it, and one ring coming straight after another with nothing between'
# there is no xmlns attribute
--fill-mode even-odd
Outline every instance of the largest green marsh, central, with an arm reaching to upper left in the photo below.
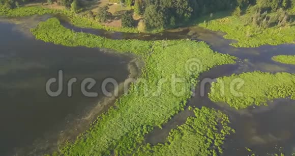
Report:
<svg viewBox="0 0 295 156"><path fill-rule="evenodd" d="M154 126L161 126L184 109L191 97L190 88L196 78L210 68L234 63L234 57L215 53L204 42L187 40L139 41L110 40L76 33L64 28L56 18L41 22L32 29L37 39L66 46L86 46L115 49L140 56L145 67L127 94L100 116L92 128L73 143L61 149L65 155L126 155L143 143L144 135ZM188 72L187 62L197 59L201 68ZM174 77L181 83L171 85ZM184 90L182 92L182 90Z"/></svg>

